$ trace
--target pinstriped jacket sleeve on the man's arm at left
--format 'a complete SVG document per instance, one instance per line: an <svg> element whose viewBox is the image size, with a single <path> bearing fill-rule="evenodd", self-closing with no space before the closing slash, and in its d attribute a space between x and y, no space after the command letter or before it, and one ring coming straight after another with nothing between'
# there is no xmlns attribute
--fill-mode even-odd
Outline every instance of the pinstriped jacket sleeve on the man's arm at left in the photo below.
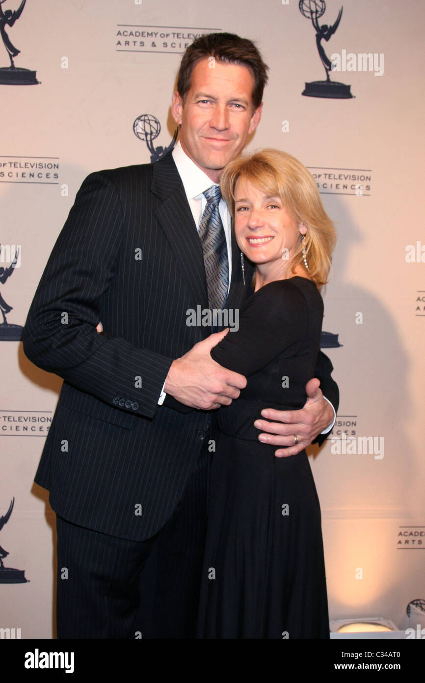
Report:
<svg viewBox="0 0 425 683"><path fill-rule="evenodd" d="M48 259L23 348L35 365L77 389L117 409L153 417L173 359L96 331L102 295L119 261L122 224L113 179L107 172L92 173Z"/></svg>

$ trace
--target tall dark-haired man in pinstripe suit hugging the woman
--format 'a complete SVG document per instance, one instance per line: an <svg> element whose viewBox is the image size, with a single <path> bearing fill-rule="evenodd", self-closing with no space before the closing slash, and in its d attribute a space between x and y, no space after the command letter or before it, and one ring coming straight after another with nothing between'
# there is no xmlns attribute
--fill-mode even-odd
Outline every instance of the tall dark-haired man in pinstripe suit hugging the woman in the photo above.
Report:
<svg viewBox="0 0 425 683"><path fill-rule="evenodd" d="M206 191L259 124L266 69L249 40L196 40L173 96L180 143L153 165L85 180L35 294L25 353L65 380L35 477L57 513L58 637L194 635L209 411L236 399L246 378L211 359L224 333L210 336L186 318L208 308L216 290L228 309L246 296L217 196L220 277L219 249L213 268L204 260L202 239L213 229ZM251 274L247 267L247 283ZM317 376L337 408L331 371L322 354ZM309 385L303 410L269 410L273 421L256 423L259 438L285 455L332 423L318 381Z"/></svg>

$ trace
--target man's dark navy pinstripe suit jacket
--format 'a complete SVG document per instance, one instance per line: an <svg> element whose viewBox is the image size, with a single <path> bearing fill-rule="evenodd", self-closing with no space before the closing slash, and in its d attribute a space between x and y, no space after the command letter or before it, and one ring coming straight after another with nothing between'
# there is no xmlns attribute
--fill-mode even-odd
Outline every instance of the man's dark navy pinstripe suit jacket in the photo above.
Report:
<svg viewBox="0 0 425 683"><path fill-rule="evenodd" d="M246 288L234 238L232 254L226 305L237 308ZM27 357L64 380L35 475L59 516L143 540L173 514L211 414L158 398L173 359L209 334L186 324L197 305L208 307L201 241L171 154L88 176L23 333Z"/></svg>

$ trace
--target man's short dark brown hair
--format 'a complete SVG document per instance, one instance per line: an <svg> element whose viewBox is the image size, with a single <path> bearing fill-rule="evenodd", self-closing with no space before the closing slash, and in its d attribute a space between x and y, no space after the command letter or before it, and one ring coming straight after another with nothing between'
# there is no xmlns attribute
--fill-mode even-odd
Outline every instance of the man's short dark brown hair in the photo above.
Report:
<svg viewBox="0 0 425 683"><path fill-rule="evenodd" d="M260 106L269 67L264 63L263 57L252 40L239 38L235 33L206 33L205 36L196 38L186 49L181 59L177 79L177 91L183 102L190 89L194 66L206 57L246 66L254 76L252 107L257 109Z"/></svg>

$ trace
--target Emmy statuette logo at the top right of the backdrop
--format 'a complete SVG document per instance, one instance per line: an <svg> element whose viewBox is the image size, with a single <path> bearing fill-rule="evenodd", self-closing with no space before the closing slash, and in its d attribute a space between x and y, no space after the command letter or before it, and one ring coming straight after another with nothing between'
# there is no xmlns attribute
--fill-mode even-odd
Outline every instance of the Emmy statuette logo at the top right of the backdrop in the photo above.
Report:
<svg viewBox="0 0 425 683"><path fill-rule="evenodd" d="M350 85L345 83L338 83L338 81L331 81L329 72L332 71L332 61L327 57L322 45L322 40L326 42L334 35L342 17L342 8L339 11L336 22L332 26L327 24L319 25L319 18L325 14L326 5L325 0L299 0L299 11L307 19L312 20L312 25L316 31L316 44L319 51L322 64L326 72L326 81L312 81L306 83L306 88L302 94L308 97L327 97L337 100L346 100L352 98L350 92Z"/></svg>

